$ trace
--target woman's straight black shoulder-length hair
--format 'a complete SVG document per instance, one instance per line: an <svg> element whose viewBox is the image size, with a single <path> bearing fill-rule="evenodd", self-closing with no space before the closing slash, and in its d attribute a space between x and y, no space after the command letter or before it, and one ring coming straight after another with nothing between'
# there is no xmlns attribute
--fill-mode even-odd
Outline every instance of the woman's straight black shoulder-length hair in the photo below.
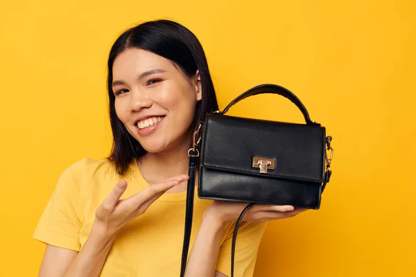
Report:
<svg viewBox="0 0 416 277"><path fill-rule="evenodd" d="M148 21L126 30L114 42L108 57L107 91L113 145L108 159L114 163L116 172L124 175L131 163L143 157L146 150L125 129L116 115L115 96L112 91L112 66L115 58L128 48L141 48L171 60L189 77L200 73L202 100L197 102L191 130L205 121L207 112L218 110L214 84L209 74L207 57L198 38L186 27L170 20ZM190 138L191 141L191 138Z"/></svg>

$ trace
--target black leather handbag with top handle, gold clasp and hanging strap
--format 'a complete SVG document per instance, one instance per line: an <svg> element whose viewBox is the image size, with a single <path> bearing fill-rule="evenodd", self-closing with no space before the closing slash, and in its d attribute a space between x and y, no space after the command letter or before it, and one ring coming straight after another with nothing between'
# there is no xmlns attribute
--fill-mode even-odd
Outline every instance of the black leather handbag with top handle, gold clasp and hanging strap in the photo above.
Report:
<svg viewBox="0 0 416 277"><path fill-rule="evenodd" d="M306 124L225 116L237 102L261 93L291 100ZM276 84L261 84L245 91L225 107L206 115L193 134L189 149L189 182L181 276L187 263L193 212L193 188L199 167L198 197L250 203L236 222L232 241L231 272L239 224L252 204L292 205L319 209L322 192L331 177L331 136L309 118L291 91ZM198 163L198 158L199 163Z"/></svg>

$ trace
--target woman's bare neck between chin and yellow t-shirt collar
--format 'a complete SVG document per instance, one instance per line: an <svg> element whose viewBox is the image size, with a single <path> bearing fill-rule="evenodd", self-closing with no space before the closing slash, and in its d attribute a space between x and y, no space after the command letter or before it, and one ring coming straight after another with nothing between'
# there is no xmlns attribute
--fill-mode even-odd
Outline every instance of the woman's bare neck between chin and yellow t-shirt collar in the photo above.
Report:
<svg viewBox="0 0 416 277"><path fill-rule="evenodd" d="M189 143L185 141L179 147L158 153L146 153L139 160L138 166L141 175L149 184L157 184L177 175L188 174ZM187 190L187 181L175 186L168 193L180 193Z"/></svg>

